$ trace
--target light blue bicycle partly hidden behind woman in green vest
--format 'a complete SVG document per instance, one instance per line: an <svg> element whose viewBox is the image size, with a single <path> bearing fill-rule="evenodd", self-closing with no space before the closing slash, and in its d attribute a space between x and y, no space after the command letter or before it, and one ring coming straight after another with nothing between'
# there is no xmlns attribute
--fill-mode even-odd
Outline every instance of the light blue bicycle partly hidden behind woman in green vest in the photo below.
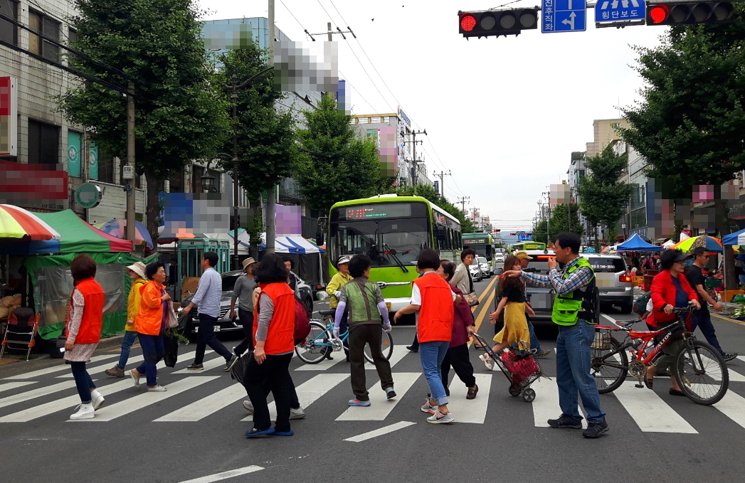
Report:
<svg viewBox="0 0 745 483"><path fill-rule="evenodd" d="M334 336L334 314L336 310L320 310L319 314L323 317L323 321L318 319L311 319L311 333L305 338L301 344L295 346L295 354L307 364L317 364L321 362L326 354L338 352L343 349L343 343L346 339L349 339L349 329L339 334L339 338ZM386 359L390 359L393 354L393 336L390 332L383 330L381 324L381 351ZM370 353L370 345L365 345L364 350L365 359L367 362L373 363L373 354Z"/></svg>

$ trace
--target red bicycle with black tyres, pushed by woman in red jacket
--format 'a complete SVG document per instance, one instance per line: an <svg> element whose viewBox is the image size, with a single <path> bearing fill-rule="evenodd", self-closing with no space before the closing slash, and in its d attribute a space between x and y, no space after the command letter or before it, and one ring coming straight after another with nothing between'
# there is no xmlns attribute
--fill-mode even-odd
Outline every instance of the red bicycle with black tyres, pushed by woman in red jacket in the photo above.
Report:
<svg viewBox="0 0 745 483"><path fill-rule="evenodd" d="M729 388L729 370L722 355L706 342L697 340L685 327L683 316L691 316L693 305L673 308L678 320L659 330L632 330L637 321L620 322L611 326L596 325L592 341L591 372L597 382L597 391L607 394L615 391L628 374L638 379L637 388L643 388L647 366L661 353L673 336L681 336L683 346L675 355L671 377L675 377L688 399L694 403L711 405L717 403ZM624 342L612 336L625 332ZM653 339L658 338L657 342ZM650 345L651 342L651 345ZM629 362L629 355L631 356Z"/></svg>

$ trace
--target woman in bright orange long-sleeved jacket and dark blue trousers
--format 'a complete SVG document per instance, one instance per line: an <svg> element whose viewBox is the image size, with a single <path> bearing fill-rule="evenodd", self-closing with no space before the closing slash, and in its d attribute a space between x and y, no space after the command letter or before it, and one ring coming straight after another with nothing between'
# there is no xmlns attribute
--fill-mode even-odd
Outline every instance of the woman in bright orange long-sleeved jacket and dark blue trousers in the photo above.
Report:
<svg viewBox="0 0 745 483"><path fill-rule="evenodd" d="M165 292L165 264L162 262L148 263L145 275L150 280L140 287L140 309L135 317L135 330L142 346L142 356L145 360L139 368L130 371L135 387L139 388L139 378L145 374L148 382L148 392L163 392L165 386L158 384L158 369L156 364L165 354L162 333L168 322L168 308L171 295Z"/></svg>

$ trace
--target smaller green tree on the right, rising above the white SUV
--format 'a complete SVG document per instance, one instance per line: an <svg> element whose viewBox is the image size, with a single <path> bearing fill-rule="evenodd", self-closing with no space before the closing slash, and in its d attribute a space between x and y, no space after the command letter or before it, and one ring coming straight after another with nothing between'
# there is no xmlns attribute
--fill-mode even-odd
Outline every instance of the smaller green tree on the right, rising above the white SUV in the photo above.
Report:
<svg viewBox="0 0 745 483"><path fill-rule="evenodd" d="M597 156L585 160L590 173L580 182L580 212L595 231L595 249L599 251L597 225L603 225L609 233L615 231L615 223L624 215L624 204L629 202L631 185L620 182L627 170L627 157L618 156L609 144Z"/></svg>

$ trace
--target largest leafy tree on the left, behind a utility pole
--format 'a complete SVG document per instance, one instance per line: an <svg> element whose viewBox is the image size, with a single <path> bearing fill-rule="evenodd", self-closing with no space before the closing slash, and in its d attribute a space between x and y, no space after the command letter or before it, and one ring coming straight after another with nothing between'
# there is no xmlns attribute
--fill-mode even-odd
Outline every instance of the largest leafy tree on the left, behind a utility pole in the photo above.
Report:
<svg viewBox="0 0 745 483"><path fill-rule="evenodd" d="M157 236L163 182L194 159L216 153L229 132L226 100L215 88L193 0L74 0L73 68L107 83L135 86L136 173L145 174L148 231ZM164 14L167 13L167 14ZM81 80L57 101L69 121L95 126L96 141L127 157L127 99Z"/></svg>

